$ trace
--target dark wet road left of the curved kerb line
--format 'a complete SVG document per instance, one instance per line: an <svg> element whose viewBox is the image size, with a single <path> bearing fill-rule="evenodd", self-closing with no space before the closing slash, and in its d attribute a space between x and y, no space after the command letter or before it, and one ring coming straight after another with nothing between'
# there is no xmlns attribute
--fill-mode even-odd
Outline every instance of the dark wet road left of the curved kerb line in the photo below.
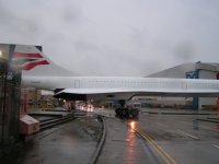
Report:
<svg viewBox="0 0 219 164"><path fill-rule="evenodd" d="M2 164L88 164L96 149L102 124L83 118L38 133L16 159Z"/></svg>

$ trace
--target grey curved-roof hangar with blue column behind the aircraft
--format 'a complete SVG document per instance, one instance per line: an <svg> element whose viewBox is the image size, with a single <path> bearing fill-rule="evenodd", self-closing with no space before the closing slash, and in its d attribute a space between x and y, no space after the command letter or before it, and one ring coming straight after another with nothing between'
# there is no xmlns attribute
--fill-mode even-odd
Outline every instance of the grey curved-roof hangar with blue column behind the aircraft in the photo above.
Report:
<svg viewBox="0 0 219 164"><path fill-rule="evenodd" d="M178 79L215 79L219 80L219 63L188 62L147 75L147 78L178 78ZM139 97L136 97L139 98ZM152 103L186 104L191 102L194 109L218 108L218 97L145 97ZM140 99L143 99L142 97ZM152 99L152 101L151 101ZM155 101L153 101L155 99ZM146 101L145 101L146 102Z"/></svg>

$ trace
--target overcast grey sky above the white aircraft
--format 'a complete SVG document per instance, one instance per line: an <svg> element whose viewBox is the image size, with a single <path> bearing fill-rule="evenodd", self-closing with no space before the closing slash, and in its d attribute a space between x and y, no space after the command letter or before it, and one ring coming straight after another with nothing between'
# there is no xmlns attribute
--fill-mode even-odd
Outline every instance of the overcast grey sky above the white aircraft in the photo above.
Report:
<svg viewBox="0 0 219 164"><path fill-rule="evenodd" d="M42 45L81 75L219 62L219 0L0 0L0 43Z"/></svg>

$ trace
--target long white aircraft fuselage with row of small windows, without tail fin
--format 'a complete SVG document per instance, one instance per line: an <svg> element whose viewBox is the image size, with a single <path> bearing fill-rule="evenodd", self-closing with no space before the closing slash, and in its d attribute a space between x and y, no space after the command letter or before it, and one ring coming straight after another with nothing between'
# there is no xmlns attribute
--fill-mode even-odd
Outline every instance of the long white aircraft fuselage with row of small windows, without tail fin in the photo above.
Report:
<svg viewBox="0 0 219 164"><path fill-rule="evenodd" d="M101 94L118 92L183 93L219 95L219 81L128 77L23 77L23 84L39 89L66 89L68 93Z"/></svg>

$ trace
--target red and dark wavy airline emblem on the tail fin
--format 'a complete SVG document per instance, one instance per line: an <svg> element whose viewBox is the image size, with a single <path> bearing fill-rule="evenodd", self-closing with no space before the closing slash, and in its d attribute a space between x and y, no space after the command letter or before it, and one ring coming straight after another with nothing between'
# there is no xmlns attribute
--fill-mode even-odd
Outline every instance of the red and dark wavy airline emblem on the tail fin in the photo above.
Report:
<svg viewBox="0 0 219 164"><path fill-rule="evenodd" d="M49 65L49 62L37 52L14 52L12 59L13 66L21 68L22 70L31 70L36 66Z"/></svg>

